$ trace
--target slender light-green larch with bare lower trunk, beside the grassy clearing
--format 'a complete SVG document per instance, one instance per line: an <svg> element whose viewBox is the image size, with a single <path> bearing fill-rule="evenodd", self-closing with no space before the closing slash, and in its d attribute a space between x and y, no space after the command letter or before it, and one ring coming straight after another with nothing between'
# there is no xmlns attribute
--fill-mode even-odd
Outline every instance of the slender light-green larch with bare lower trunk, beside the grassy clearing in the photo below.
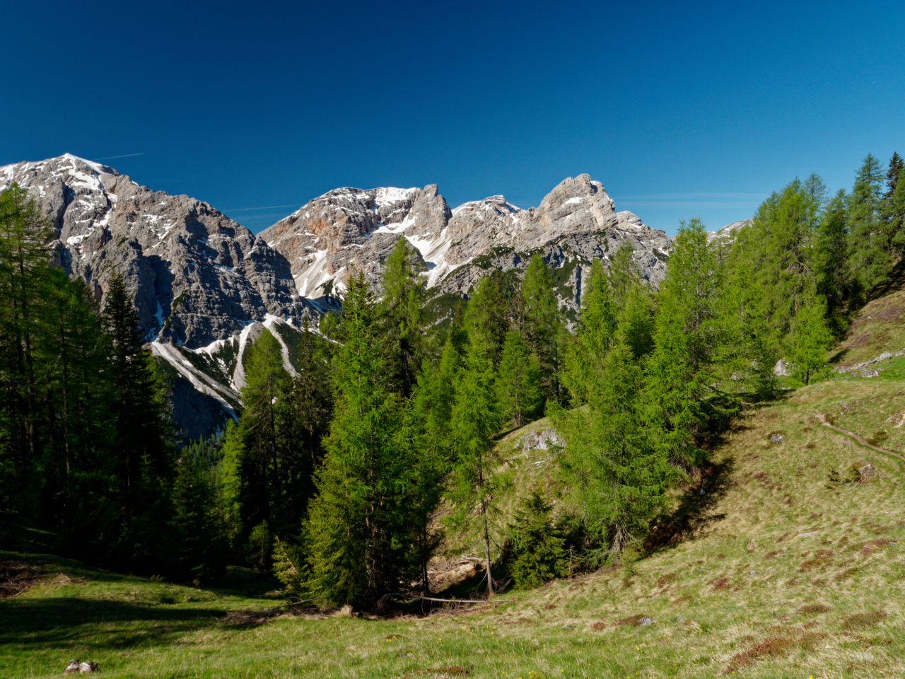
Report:
<svg viewBox="0 0 905 679"><path fill-rule="evenodd" d="M464 525L477 510L487 569L487 592L493 594L491 572L491 523L502 479L496 473L492 436L500 429L499 406L494 394L495 375L486 345L472 338L456 380L455 406L450 431L456 457L449 494L456 504L452 520Z"/></svg>

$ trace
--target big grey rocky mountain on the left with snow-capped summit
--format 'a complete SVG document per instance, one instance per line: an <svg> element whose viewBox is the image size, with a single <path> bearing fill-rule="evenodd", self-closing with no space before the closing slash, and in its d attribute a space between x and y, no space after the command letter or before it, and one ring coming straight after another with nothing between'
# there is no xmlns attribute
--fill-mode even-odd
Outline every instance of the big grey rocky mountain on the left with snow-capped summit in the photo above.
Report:
<svg viewBox="0 0 905 679"><path fill-rule="evenodd" d="M50 219L58 263L99 299L110 275L122 273L148 340L197 348L268 313L310 313L286 258L205 202L69 154L0 167L0 190L13 182Z"/></svg>

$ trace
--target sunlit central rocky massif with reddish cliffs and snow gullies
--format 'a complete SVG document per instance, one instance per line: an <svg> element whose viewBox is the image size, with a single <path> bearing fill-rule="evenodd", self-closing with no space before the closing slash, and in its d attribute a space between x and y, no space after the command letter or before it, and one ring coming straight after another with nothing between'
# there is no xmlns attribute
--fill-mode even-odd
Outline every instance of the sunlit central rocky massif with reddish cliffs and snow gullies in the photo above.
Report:
<svg viewBox="0 0 905 679"><path fill-rule="evenodd" d="M630 212L615 212L604 186L587 175L564 179L538 207L523 210L490 196L450 210L436 185L424 188L338 188L314 198L259 237L286 256L299 293L342 291L353 266L380 291L386 255L405 237L426 265L435 293L467 296L491 268L524 269L540 252L554 268L572 264L563 304L580 303L582 267L627 241L650 282L662 280L671 241Z"/></svg>

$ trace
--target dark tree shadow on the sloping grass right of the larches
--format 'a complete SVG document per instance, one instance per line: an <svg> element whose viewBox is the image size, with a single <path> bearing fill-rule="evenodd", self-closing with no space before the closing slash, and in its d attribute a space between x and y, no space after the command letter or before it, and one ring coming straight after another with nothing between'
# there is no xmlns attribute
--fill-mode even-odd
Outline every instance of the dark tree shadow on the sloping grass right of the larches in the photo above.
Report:
<svg viewBox="0 0 905 679"><path fill-rule="evenodd" d="M734 469L735 459L732 457L702 467L700 485L692 485L682 495L674 512L659 517L656 530L644 545L645 549L654 551L674 546L681 540L700 536L711 524L722 521L726 515L716 509L732 486Z"/></svg>

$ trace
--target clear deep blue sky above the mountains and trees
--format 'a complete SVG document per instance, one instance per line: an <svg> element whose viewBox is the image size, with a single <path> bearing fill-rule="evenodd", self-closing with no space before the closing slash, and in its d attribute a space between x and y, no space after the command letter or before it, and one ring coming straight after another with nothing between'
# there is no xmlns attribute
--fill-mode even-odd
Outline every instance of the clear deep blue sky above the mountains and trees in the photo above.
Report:
<svg viewBox="0 0 905 679"><path fill-rule="evenodd" d="M252 231L336 186L529 207L587 172L673 234L905 155L900 2L43 2L3 22L0 165L141 153L104 162Z"/></svg>

